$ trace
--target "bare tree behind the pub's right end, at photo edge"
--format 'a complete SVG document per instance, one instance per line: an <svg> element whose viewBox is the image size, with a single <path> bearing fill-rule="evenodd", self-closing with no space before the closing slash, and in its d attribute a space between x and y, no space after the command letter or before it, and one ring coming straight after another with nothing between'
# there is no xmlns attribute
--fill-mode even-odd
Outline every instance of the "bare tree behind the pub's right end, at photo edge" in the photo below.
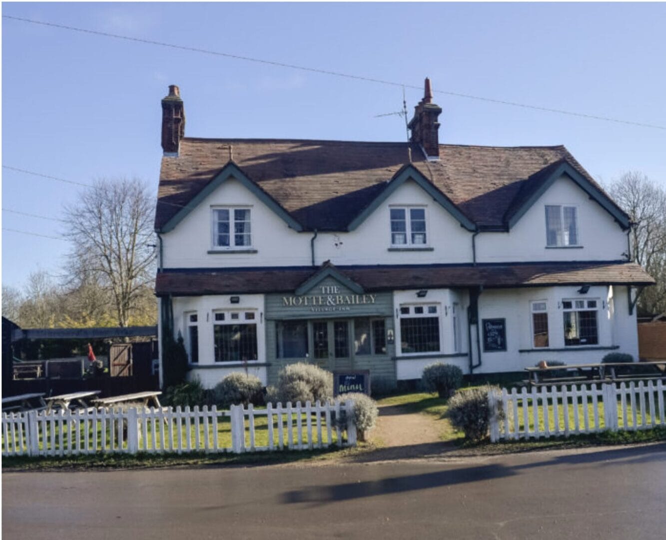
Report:
<svg viewBox="0 0 666 540"><path fill-rule="evenodd" d="M666 191L643 173L630 171L609 186L609 193L633 222L631 260L657 280L639 305L649 313L666 313Z"/></svg>

